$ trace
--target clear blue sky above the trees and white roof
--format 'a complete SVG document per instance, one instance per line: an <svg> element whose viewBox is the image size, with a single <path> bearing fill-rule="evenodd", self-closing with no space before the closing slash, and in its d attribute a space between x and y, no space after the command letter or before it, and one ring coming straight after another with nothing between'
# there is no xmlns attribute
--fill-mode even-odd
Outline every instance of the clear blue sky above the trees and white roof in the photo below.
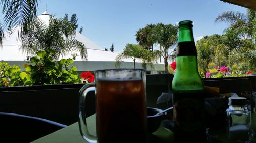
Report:
<svg viewBox="0 0 256 143"><path fill-rule="evenodd" d="M228 24L215 23L225 11L246 13L246 8L219 0L41 0L38 15L46 9L56 18L76 13L79 31L101 48L122 51L127 43L136 44L136 31L147 24L176 24L182 20L194 22L195 40L199 37L222 34Z"/></svg>

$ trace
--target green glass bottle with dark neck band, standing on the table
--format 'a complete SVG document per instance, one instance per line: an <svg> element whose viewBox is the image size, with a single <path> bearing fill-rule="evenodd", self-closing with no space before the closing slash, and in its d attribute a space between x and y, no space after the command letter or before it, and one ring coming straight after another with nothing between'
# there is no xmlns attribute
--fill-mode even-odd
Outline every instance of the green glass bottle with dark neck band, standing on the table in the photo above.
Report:
<svg viewBox="0 0 256 143"><path fill-rule="evenodd" d="M179 22L172 92L175 142L206 142L204 85L198 73L197 50L189 20Z"/></svg>

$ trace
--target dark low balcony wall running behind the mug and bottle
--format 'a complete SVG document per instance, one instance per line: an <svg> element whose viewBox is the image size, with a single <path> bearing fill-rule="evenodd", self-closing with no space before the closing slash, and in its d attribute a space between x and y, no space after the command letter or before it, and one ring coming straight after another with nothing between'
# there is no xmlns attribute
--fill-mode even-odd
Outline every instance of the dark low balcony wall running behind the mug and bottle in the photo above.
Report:
<svg viewBox="0 0 256 143"><path fill-rule="evenodd" d="M162 92L170 91L173 75L153 74L147 75L146 79L147 105L167 108L167 104L156 104L156 100ZM203 81L206 86L219 87L220 94L234 92L241 95L241 92L249 91L251 86L249 77L210 78ZM0 112L19 113L70 125L78 120L78 92L83 85L0 88ZM90 101L89 114L93 114L94 96Z"/></svg>

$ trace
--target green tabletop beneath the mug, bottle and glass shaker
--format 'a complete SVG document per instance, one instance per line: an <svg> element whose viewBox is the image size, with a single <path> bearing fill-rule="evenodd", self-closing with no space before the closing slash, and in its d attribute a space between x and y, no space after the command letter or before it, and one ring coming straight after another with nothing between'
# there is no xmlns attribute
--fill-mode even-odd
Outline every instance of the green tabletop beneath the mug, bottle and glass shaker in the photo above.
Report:
<svg viewBox="0 0 256 143"><path fill-rule="evenodd" d="M96 135L96 116L92 115L90 117L87 118L87 125L88 125L88 130L92 135ZM208 135L210 136L210 140L209 142L218 142L218 143L222 143L222 142L229 142L226 138L226 127L223 127L221 129L209 129L208 130ZM214 140L212 140L212 137L214 138ZM255 143L256 140L254 138L251 138L251 143ZM173 133L170 131L167 131L166 129L164 129L162 126L159 127L159 129L152 133L152 134L148 134L148 143L170 143L173 142ZM83 140L80 132L79 132L79 127L78 127L78 122L60 129L56 132L53 132L49 135L46 135L44 137L41 137L35 141L33 141L34 143L39 143L39 142L44 142L44 143L85 143L87 142L86 140Z"/></svg>

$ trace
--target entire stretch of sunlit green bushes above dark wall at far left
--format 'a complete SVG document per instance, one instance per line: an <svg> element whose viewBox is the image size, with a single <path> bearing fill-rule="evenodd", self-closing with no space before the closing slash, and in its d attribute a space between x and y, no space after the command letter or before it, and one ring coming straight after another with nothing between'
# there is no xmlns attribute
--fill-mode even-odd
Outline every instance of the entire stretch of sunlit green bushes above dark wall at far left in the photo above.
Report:
<svg viewBox="0 0 256 143"><path fill-rule="evenodd" d="M0 86L26 86L81 83L72 59L53 60L53 50L38 51L37 56L24 64L25 72L19 66L0 63Z"/></svg>

